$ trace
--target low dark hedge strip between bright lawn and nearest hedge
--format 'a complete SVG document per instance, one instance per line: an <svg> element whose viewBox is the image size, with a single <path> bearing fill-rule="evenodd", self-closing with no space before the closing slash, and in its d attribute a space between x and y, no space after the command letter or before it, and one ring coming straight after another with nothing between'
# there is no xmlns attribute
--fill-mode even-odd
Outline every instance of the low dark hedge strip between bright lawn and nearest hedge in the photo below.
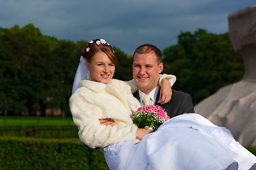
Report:
<svg viewBox="0 0 256 170"><path fill-rule="evenodd" d="M78 138L75 125L0 125L0 136Z"/></svg>

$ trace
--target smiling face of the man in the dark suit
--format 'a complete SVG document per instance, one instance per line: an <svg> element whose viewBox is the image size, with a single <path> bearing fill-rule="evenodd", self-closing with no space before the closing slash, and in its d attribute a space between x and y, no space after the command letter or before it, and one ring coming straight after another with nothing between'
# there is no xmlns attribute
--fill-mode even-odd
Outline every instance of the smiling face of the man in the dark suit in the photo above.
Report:
<svg viewBox="0 0 256 170"><path fill-rule="evenodd" d="M133 79L140 91L149 94L158 85L159 74L162 72L162 62L158 64L154 52L147 54L135 53L133 56Z"/></svg>

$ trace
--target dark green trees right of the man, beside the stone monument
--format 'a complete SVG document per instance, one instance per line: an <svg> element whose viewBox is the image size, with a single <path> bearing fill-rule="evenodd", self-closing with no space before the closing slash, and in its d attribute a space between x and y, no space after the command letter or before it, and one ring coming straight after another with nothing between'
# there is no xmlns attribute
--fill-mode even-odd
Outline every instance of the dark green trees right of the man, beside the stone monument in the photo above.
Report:
<svg viewBox="0 0 256 170"><path fill-rule="evenodd" d="M243 59L233 50L228 33L180 33L177 45L165 48L163 55L165 72L177 76L174 89L191 94L194 103L244 74Z"/></svg>

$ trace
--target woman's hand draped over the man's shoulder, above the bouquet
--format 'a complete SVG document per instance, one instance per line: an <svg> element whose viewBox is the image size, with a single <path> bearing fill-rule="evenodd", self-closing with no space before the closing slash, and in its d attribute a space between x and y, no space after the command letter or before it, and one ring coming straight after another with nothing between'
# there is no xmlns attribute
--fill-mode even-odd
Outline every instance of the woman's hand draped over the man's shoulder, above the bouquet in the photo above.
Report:
<svg viewBox="0 0 256 170"><path fill-rule="evenodd" d="M157 103L165 104L172 98L172 86L168 79L162 79L162 86L160 89L160 98Z"/></svg>

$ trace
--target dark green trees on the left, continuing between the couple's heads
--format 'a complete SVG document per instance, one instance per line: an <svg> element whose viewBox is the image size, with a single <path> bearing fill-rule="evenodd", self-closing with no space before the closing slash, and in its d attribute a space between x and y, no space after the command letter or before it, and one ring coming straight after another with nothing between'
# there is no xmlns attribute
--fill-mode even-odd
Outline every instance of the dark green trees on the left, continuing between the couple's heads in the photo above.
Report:
<svg viewBox="0 0 256 170"><path fill-rule="evenodd" d="M60 108L69 114L74 74L86 44L42 35L32 24L0 28L1 113L19 115L27 111L34 115L40 111L45 115L47 108ZM115 50L120 72L115 78L130 79L126 74L131 76L131 69L122 69L128 64L126 55Z"/></svg>

